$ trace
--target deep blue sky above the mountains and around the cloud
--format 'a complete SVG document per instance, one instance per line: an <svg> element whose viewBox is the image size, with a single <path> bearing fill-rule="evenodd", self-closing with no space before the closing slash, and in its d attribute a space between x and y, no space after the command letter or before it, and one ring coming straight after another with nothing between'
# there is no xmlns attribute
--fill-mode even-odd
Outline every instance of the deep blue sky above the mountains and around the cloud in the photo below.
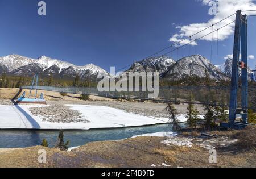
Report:
<svg viewBox="0 0 256 179"><path fill-rule="evenodd" d="M169 39L180 33L177 26L214 18L201 0L46 0L46 16L38 15L38 2L0 0L0 56L46 55L76 65L93 63L109 71L110 66L122 68L171 45ZM256 57L256 17L249 18L248 26L248 53ZM210 60L211 44L202 40L181 48L179 58L199 53ZM220 65L233 53L233 35L219 42L218 52ZM217 64L216 41L212 53ZM177 52L169 56L178 58ZM254 69L255 59L249 65Z"/></svg>

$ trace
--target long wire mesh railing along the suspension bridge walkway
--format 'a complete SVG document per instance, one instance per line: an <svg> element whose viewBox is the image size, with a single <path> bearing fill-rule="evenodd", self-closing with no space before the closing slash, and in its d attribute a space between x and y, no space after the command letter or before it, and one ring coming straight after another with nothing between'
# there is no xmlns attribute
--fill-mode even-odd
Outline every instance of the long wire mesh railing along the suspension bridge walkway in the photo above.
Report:
<svg viewBox="0 0 256 179"><path fill-rule="evenodd" d="M30 89L31 86L23 86L23 89ZM88 94L99 95L102 97L111 98L130 98L140 100L154 100L154 101L172 101L172 102L191 102L191 95L193 97L192 103L229 106L230 86L177 86L177 87L160 87L157 98L148 98L148 94L152 92L142 91L109 91L101 92L97 88L86 87L54 87L54 86L34 86L33 89L57 91L72 94ZM241 88L238 88L237 95L238 106L241 107ZM256 110L256 86L249 86L248 88L248 103L249 108Z"/></svg>

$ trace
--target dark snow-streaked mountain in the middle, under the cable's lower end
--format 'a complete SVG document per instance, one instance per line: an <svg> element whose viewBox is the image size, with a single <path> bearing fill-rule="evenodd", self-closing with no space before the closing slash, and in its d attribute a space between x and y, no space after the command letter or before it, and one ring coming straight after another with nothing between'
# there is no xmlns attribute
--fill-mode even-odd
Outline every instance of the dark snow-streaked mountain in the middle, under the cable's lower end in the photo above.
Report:
<svg viewBox="0 0 256 179"><path fill-rule="evenodd" d="M168 56L159 56L137 61L131 65L126 72L159 72L160 74L175 64L175 61Z"/></svg>

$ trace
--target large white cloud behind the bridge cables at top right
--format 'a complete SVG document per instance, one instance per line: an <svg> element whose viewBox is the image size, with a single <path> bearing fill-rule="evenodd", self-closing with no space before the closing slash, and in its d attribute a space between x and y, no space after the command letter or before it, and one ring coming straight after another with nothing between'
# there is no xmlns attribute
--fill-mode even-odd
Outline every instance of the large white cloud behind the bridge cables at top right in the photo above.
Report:
<svg viewBox="0 0 256 179"><path fill-rule="evenodd" d="M208 6L210 2L210 0L196 0L196 1L199 1L205 6ZM212 26L212 24L215 24L220 20L226 18L227 16L233 13L236 13L237 10L255 10L256 9L256 4L254 3L255 0L217 0L216 2L217 2L217 14L214 15L212 19L208 20L208 22L191 23L185 26L177 26L176 28L179 29L179 32L177 34L174 34L169 41L177 43L178 41L184 38L188 38L189 36L192 36L193 34L196 34L197 32L199 32L200 30L203 30L204 28ZM255 12L247 12L246 14L247 15L255 14ZM232 17L216 24L213 27L213 29L216 30L217 28L225 26L226 24L232 22L235 18L236 16L233 15ZM192 40L200 38L201 36L209 34L210 32L212 32L212 27L201 32L200 34L193 36ZM230 35L233 35L233 33L234 33L234 23L222 28L218 33L218 39L225 40ZM212 35L205 36L200 40L212 41ZM213 40L214 41L217 40L217 31L213 33ZM189 43L189 39L182 41L180 45L187 44L187 43ZM191 43L191 45L197 45L197 43L193 42Z"/></svg>

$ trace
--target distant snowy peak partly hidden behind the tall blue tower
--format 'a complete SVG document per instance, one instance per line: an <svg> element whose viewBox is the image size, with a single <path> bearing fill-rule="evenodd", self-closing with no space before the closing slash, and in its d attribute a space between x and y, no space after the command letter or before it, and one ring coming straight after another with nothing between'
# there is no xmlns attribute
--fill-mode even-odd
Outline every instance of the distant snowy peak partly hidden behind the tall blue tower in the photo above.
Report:
<svg viewBox="0 0 256 179"><path fill-rule="evenodd" d="M231 77L232 75L232 58L228 58L226 59L225 63L217 66L221 72L225 73L226 75L228 75L229 77ZM255 74L253 72L253 70L248 66L248 80L253 80L255 79ZM239 76L241 76L242 72L241 72L241 68L239 68L239 72L238 72Z"/></svg>

